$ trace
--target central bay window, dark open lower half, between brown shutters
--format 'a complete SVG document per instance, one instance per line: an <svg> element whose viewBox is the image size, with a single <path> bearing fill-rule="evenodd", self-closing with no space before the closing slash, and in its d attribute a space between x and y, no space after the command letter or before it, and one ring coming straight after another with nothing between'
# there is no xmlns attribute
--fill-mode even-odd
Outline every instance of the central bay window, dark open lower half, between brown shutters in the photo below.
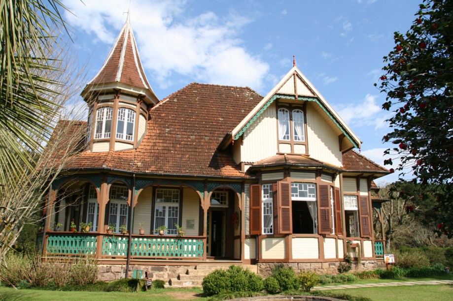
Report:
<svg viewBox="0 0 453 301"><path fill-rule="evenodd" d="M317 233L316 186L291 183L293 233Z"/></svg>

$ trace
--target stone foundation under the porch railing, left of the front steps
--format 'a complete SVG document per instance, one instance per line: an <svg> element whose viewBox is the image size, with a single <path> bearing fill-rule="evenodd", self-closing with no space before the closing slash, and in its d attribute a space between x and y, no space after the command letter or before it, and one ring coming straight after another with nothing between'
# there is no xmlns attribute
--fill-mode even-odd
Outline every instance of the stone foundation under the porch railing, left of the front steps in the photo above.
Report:
<svg viewBox="0 0 453 301"><path fill-rule="evenodd" d="M129 278L132 278L134 270L142 270L148 273L152 280L164 280L176 278L179 273L186 273L187 266L129 266ZM125 278L126 265L99 265L98 279L102 281L113 281ZM143 274L144 276L145 274Z"/></svg>

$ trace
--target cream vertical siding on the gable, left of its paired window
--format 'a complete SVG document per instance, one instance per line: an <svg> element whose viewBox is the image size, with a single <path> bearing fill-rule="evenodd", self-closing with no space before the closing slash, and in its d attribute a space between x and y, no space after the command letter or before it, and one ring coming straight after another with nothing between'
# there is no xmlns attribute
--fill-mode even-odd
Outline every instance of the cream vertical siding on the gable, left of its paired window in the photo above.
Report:
<svg viewBox="0 0 453 301"><path fill-rule="evenodd" d="M275 104L269 106L244 133L241 160L256 162L277 153L277 118Z"/></svg>

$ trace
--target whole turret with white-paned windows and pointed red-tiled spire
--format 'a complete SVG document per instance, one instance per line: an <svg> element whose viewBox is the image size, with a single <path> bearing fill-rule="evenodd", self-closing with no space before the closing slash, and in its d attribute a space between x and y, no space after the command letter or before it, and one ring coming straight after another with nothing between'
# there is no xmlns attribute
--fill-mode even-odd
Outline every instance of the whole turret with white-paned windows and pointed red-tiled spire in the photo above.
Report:
<svg viewBox="0 0 453 301"><path fill-rule="evenodd" d="M130 19L98 74L82 91L88 103L89 149L120 151L138 146L148 110L159 99L146 79Z"/></svg>

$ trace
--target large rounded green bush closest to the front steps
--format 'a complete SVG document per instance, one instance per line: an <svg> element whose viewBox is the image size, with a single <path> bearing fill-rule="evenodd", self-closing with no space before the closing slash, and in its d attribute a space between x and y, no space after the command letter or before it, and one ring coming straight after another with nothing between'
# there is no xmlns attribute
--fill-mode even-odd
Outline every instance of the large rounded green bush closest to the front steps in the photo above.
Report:
<svg viewBox="0 0 453 301"><path fill-rule="evenodd" d="M263 279L241 266L231 265L226 271L210 272L203 279L202 286L207 296L224 292L259 292L263 289Z"/></svg>

